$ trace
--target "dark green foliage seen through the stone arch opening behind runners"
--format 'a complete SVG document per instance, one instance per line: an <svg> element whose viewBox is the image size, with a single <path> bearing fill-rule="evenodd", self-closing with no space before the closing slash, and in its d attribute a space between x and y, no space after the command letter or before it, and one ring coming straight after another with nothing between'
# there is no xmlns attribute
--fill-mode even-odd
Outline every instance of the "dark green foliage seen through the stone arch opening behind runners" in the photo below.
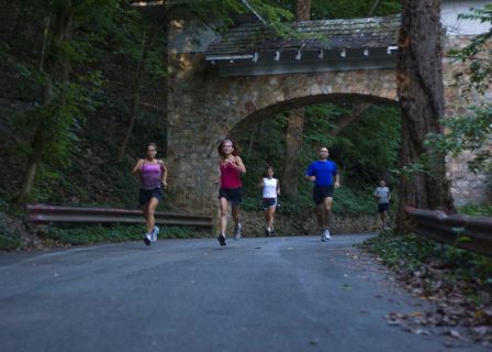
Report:
<svg viewBox="0 0 492 352"><path fill-rule="evenodd" d="M303 176L308 165L317 160L317 146L326 145L342 175L342 187L335 191L334 211L373 213L373 188L381 177L388 176L389 169L396 166L400 111L394 107L372 106L339 136L333 136L332 131L350 114L350 105L315 105L305 107L304 112L299 196L295 199L280 196L278 211L292 216L312 211L312 185ZM275 177L280 178L282 185L287 125L288 116L279 114L259 124L249 124L238 134L237 142L243 147L242 156L247 167L242 204L245 210L261 210L261 193L257 185L266 165L273 166ZM235 135L234 131L232 134Z"/></svg>

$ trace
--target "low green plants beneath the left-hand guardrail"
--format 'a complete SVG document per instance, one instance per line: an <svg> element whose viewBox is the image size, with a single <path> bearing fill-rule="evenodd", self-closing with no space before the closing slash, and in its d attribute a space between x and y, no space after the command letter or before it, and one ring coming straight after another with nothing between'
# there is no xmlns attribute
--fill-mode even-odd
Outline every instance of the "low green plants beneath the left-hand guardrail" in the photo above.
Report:
<svg viewBox="0 0 492 352"><path fill-rule="evenodd" d="M63 244L93 244L104 242L139 241L143 226L88 226L80 228L49 227L44 235ZM192 228L160 227L159 239L190 239L206 237L208 232Z"/></svg>

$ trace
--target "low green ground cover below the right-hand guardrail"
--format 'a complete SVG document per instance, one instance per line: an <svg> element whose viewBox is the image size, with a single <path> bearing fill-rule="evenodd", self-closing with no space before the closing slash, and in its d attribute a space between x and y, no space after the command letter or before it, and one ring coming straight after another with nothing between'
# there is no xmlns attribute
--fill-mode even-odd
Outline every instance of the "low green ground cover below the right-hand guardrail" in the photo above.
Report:
<svg viewBox="0 0 492 352"><path fill-rule="evenodd" d="M492 260L490 257L440 244L418 235L400 237L391 232L382 232L366 241L362 246L381 257L390 267L414 272L424 264L437 262L440 267L451 268L450 274L445 277L450 283L492 283Z"/></svg>

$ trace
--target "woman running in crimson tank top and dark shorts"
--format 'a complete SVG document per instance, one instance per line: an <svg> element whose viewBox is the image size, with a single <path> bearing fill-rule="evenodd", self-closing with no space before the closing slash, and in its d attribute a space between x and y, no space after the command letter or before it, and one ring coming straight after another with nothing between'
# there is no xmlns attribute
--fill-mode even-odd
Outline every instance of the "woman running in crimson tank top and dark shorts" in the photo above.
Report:
<svg viewBox="0 0 492 352"><path fill-rule="evenodd" d="M225 245L225 230L227 229L227 212L228 204L232 207L232 216L234 220L234 239L241 238L241 230L243 228L239 222L239 204L243 198L243 184L241 182L241 174L246 173L246 167L241 158L237 145L231 140L224 140L217 147L221 160L219 162L220 189L219 202L221 207L219 243Z"/></svg>

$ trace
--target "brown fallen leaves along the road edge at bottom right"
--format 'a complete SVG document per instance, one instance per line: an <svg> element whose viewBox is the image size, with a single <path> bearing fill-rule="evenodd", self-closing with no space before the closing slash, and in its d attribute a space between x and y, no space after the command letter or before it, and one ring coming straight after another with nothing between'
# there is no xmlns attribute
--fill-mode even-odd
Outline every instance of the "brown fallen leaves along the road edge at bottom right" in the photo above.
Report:
<svg viewBox="0 0 492 352"><path fill-rule="evenodd" d="M431 305L424 311L391 312L385 317L388 324L415 334L443 334L450 339L449 345L452 340L492 345L492 293L487 285L456 280L452 268L438 261L415 271L396 270L396 274L412 296Z"/></svg>

